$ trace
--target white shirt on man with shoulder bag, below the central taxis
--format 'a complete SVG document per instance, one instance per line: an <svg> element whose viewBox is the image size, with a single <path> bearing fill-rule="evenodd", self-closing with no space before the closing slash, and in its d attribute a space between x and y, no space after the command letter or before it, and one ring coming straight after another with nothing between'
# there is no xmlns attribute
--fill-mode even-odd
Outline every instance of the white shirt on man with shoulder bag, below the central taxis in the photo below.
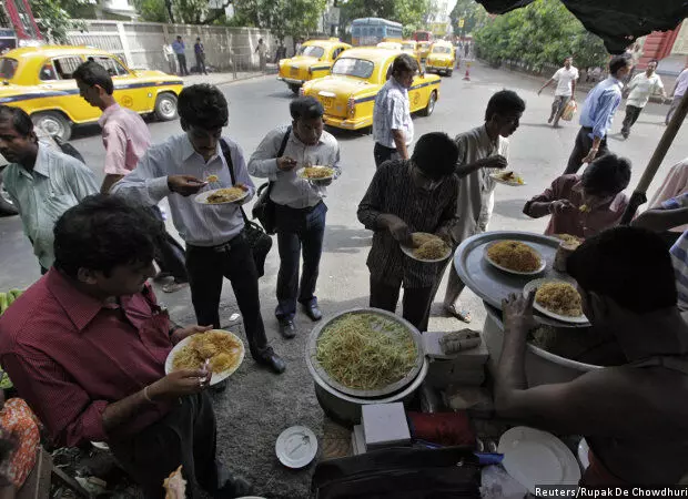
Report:
<svg viewBox="0 0 688 499"><path fill-rule="evenodd" d="M280 126L265 135L249 161L249 173L274 182L270 192L273 202L293 208L312 207L323 198L326 187L299 177L296 172L306 165L338 169L340 144L331 133L323 131L317 144L306 145L292 130L283 155L296 160L297 164L294 170L283 172L277 167L277 153L287 128Z"/></svg>

